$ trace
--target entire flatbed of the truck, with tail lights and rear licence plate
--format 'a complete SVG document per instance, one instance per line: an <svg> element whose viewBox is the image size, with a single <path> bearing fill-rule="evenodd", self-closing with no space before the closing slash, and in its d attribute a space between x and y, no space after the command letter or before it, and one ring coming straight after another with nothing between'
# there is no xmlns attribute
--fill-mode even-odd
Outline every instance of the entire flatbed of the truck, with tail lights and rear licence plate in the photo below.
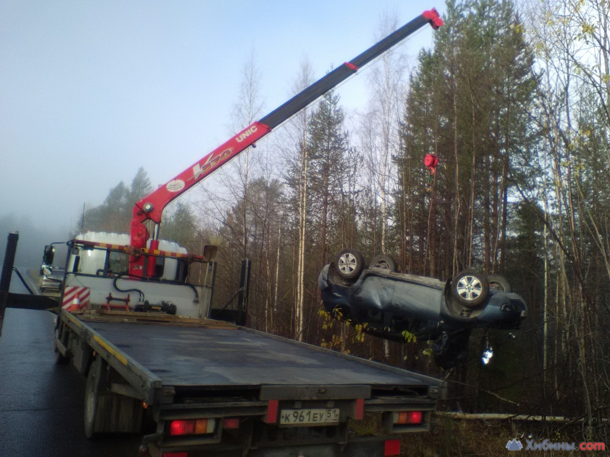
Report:
<svg viewBox="0 0 610 457"><path fill-rule="evenodd" d="M140 433L145 416L156 422L140 455L397 455L387 453L399 436L390 435L428 430L446 388L397 367L167 314L62 310L56 348L59 362L87 375L88 436ZM399 423L409 413L415 420ZM388 436L348 433L348 420L368 414L380 415ZM205 433L174 433L198 422Z"/></svg>

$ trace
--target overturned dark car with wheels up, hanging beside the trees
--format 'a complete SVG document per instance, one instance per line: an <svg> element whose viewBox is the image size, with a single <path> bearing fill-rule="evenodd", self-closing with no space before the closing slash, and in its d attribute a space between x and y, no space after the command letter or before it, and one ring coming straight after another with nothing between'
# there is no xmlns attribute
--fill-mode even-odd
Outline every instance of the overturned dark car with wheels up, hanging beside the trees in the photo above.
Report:
<svg viewBox="0 0 610 457"><path fill-rule="evenodd" d="M326 311L340 321L393 341L407 335L434 341L439 366L461 361L472 328L516 329L527 314L523 299L505 278L465 270L443 282L397 272L389 255L378 255L365 268L353 249L340 252L320 272L318 286Z"/></svg>

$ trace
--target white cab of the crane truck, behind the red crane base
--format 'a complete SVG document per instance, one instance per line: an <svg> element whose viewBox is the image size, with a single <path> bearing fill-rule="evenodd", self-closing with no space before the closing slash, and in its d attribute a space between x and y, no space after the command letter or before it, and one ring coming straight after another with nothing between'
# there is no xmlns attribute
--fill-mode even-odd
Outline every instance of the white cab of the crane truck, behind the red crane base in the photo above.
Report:
<svg viewBox="0 0 610 457"><path fill-rule="evenodd" d="M207 317L210 312L215 246L203 256L189 255L171 241L159 249L142 249L154 262L148 278L129 273L129 235L87 232L68 242L62 308L68 311L162 311L184 317Z"/></svg>

